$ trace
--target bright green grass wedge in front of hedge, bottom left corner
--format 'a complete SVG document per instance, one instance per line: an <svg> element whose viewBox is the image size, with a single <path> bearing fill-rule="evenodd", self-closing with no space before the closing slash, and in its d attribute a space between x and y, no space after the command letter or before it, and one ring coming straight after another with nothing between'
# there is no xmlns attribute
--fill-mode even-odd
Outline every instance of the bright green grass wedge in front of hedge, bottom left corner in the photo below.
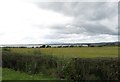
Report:
<svg viewBox="0 0 120 82"><path fill-rule="evenodd" d="M2 80L55 80L55 79L56 78L46 76L43 74L29 75L8 68L2 69Z"/></svg>

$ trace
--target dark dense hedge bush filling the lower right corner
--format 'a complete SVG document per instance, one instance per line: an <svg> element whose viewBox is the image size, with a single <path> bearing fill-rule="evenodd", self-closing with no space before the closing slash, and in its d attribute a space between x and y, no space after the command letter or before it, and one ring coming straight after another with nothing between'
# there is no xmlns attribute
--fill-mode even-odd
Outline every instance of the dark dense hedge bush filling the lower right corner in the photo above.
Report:
<svg viewBox="0 0 120 82"><path fill-rule="evenodd" d="M118 80L117 58L73 58L64 68L68 80Z"/></svg>

